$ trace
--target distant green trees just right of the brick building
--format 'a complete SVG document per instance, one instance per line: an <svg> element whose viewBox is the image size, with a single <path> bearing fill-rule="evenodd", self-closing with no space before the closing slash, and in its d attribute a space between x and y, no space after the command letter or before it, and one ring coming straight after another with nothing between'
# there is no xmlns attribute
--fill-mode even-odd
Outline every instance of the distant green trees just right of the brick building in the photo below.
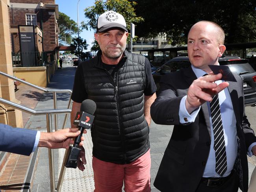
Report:
<svg viewBox="0 0 256 192"><path fill-rule="evenodd" d="M59 42L61 44L65 44L65 36L66 36L66 44L70 44L70 27L71 28L71 35L77 33L77 23L70 19L65 13L59 12L59 19L58 19L58 26L59 26Z"/></svg>

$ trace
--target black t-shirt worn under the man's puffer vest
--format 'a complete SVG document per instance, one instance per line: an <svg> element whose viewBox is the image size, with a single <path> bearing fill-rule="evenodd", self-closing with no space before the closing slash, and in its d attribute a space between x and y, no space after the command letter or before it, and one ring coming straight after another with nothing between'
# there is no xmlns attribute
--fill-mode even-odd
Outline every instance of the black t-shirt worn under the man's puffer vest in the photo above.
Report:
<svg viewBox="0 0 256 192"><path fill-rule="evenodd" d="M117 65L108 65L105 63L101 63L101 65L113 77L115 70L117 70L120 66L122 66L122 64L125 62L125 59L126 57L122 58ZM146 82L144 94L146 96L150 96L156 92L156 84L152 77L150 63L147 58L145 58L145 74L146 74L147 82ZM87 95L87 91L85 90L82 65L78 65L78 67L76 68L76 75L74 79L74 86L73 86L71 99L74 102L82 103L83 100L87 99L87 97L88 95Z"/></svg>

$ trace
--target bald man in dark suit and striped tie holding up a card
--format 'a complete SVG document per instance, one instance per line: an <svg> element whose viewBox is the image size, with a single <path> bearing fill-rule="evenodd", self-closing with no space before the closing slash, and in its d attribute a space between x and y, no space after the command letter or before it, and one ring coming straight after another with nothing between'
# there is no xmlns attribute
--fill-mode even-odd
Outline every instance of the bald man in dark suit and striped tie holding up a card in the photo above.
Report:
<svg viewBox="0 0 256 192"><path fill-rule="evenodd" d="M236 74L236 82L222 81L208 66L219 65L224 37L219 25L197 22L188 34L191 67L160 81L151 116L174 125L154 182L162 192L248 190L247 154L256 154L256 137L245 116L243 81Z"/></svg>

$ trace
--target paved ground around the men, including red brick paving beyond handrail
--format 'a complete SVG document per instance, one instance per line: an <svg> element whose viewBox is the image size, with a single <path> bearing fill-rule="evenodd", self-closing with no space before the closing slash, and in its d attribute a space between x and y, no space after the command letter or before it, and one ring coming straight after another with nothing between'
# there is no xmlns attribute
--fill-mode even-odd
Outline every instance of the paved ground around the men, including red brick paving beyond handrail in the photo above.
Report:
<svg viewBox="0 0 256 192"><path fill-rule="evenodd" d="M75 67L65 65L63 68L58 69L56 74L51 79L47 89L72 89ZM20 85L22 86L22 85ZM23 89L22 87L18 89ZM19 91L19 90L18 90ZM22 105L28 107L35 107L35 110L53 109L53 95L51 93L43 93L37 90L24 88L23 93L16 92L18 99ZM69 101L69 94L59 93L57 94L58 109L66 109ZM64 115L58 115L58 127L61 128L63 124ZM25 128L37 129L40 131L46 131L46 116L24 116L24 122L26 122ZM52 117L52 126L54 127L54 117ZM70 119L67 121L66 127L70 127ZM152 192L159 192L154 186L154 180L160 166L161 159L165 148L169 142L173 131L173 126L161 126L152 122L150 126L150 153L151 153L151 188ZM62 186L62 192L93 192L93 172L91 167L91 136L90 133L85 135L85 151L87 158L87 165L84 172L78 169L69 168L66 171L64 182ZM58 183L60 166L62 163L64 150L54 150L54 166L55 166L55 183ZM255 157L249 158L249 177L256 165ZM1 175L0 175L1 176ZM19 184L16 184L19 186ZM8 192L12 190L6 190ZM49 163L48 163L48 150L46 148L40 148L39 159L37 163L37 169L33 178L32 192L50 192L50 177L49 177Z"/></svg>

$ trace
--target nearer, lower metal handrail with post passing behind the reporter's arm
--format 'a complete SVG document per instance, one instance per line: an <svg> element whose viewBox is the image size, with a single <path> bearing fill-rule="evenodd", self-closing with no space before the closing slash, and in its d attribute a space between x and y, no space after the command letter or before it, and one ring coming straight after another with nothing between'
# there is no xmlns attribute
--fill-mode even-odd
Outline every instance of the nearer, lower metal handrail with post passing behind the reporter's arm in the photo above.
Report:
<svg viewBox="0 0 256 192"><path fill-rule="evenodd" d="M22 105L19 105L17 103L5 100L3 98L0 98L0 103L3 103L4 105L8 105L10 107L13 107L15 109L19 109L20 111L24 111L26 113L30 113L33 115L46 115L46 122L47 122L47 132L52 132L52 116L51 114L62 114L62 113L71 113L71 109L50 109L50 110L39 110L35 111L33 109L30 109L28 107L24 107ZM55 192L55 176L54 176L54 158L53 158L53 150L48 149L48 155L49 155L49 170L50 170L50 188L51 192Z"/></svg>

